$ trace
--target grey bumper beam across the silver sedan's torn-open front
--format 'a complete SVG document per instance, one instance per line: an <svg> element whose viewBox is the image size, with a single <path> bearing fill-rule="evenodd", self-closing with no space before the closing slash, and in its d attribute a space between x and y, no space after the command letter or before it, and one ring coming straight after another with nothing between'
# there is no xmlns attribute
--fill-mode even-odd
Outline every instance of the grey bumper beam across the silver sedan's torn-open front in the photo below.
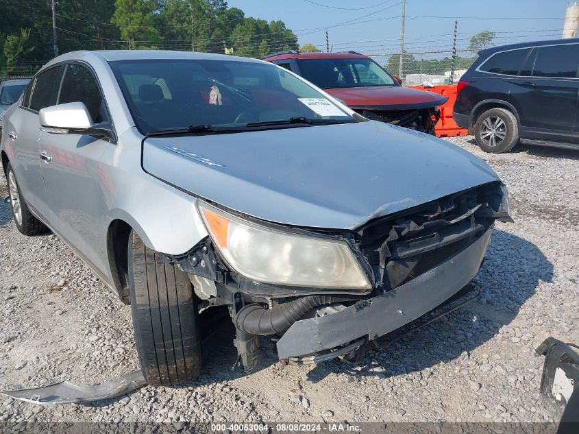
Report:
<svg viewBox="0 0 579 434"><path fill-rule="evenodd" d="M456 256L391 291L360 300L332 315L295 322L277 343L278 357L301 357L360 338L377 339L428 313L475 276L491 232L487 230Z"/></svg>

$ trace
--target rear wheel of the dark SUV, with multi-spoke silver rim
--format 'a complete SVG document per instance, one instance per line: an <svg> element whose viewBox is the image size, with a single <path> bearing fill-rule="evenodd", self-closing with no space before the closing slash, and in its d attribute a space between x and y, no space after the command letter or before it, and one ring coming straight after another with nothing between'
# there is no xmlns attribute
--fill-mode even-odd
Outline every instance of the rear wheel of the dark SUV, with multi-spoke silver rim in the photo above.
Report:
<svg viewBox="0 0 579 434"><path fill-rule="evenodd" d="M510 151L519 141L517 118L504 108L491 108L482 113L474 132L480 149L493 154Z"/></svg>

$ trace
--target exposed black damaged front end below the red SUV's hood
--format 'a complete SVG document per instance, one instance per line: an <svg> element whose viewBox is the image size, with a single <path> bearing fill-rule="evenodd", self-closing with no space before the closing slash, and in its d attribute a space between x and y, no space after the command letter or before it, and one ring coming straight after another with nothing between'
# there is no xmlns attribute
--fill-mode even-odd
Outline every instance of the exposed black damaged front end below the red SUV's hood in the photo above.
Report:
<svg viewBox="0 0 579 434"><path fill-rule="evenodd" d="M353 110L372 121L391 123L409 130L432 135L435 135L434 126L441 117L441 110L438 107L403 108L398 110L354 108Z"/></svg>

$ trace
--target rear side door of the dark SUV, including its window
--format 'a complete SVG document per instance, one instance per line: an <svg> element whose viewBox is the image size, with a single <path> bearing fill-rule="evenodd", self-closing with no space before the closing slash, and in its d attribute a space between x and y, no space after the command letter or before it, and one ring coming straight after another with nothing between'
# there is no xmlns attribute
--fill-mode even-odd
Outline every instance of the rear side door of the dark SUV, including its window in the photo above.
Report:
<svg viewBox="0 0 579 434"><path fill-rule="evenodd" d="M579 143L574 134L578 69L579 44L534 48L509 95L523 138Z"/></svg>

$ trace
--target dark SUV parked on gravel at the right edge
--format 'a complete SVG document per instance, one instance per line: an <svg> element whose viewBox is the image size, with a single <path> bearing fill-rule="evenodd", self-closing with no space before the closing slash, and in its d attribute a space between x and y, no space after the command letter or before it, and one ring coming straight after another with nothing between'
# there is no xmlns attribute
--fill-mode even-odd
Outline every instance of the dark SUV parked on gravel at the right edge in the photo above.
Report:
<svg viewBox="0 0 579 434"><path fill-rule="evenodd" d="M486 152L518 143L579 149L579 39L479 51L458 82L454 121Z"/></svg>

